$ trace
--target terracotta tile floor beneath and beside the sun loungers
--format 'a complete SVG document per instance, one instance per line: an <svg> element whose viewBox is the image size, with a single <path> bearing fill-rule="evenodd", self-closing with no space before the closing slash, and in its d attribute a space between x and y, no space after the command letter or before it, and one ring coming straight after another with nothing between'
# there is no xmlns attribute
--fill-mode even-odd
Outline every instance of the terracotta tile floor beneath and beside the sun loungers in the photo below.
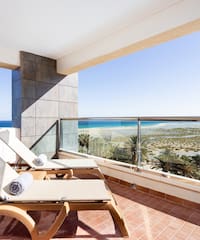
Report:
<svg viewBox="0 0 200 240"><path fill-rule="evenodd" d="M109 181L109 186L124 214L130 238L138 240L199 240L200 211L178 206L164 199L135 191ZM35 212L40 230L47 228L55 217L53 212ZM0 239L25 240L29 234L16 220L0 216ZM119 240L107 211L71 212L54 240Z"/></svg>

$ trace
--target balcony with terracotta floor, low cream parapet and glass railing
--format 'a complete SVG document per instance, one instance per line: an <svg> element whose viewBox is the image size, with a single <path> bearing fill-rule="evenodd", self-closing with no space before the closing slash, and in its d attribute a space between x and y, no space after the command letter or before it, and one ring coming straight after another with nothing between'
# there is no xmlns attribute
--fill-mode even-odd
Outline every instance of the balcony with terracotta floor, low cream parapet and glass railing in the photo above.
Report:
<svg viewBox="0 0 200 240"><path fill-rule="evenodd" d="M55 153L60 158L93 157L122 210L129 239L197 240L200 238L199 120L62 119L32 150L37 154L45 151L49 157ZM115 126L105 127L105 121ZM94 124L98 126L92 127ZM85 145L81 143L81 134L87 136ZM132 145L129 140L133 140ZM188 166L195 169L185 171ZM54 217L54 212L34 215L41 231ZM0 229L0 239L29 237L25 228L13 219L3 218ZM84 211L71 212L54 239L122 238L106 212Z"/></svg>

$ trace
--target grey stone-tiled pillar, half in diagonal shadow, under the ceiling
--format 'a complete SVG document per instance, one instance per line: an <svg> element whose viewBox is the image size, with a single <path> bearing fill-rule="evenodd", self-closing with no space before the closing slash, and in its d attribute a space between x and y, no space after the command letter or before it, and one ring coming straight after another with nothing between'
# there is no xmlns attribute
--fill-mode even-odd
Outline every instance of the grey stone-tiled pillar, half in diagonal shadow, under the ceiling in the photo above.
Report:
<svg viewBox="0 0 200 240"><path fill-rule="evenodd" d="M30 147L57 119L78 116L78 75L60 75L55 60L26 52L20 65L12 74L12 115Z"/></svg>

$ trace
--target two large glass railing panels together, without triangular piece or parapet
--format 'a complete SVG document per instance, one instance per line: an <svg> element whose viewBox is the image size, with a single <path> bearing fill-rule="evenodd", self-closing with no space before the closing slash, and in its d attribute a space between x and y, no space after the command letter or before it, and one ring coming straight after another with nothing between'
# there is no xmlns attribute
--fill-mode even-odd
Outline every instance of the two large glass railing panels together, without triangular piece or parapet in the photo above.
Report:
<svg viewBox="0 0 200 240"><path fill-rule="evenodd" d="M60 147L200 179L200 119L62 119Z"/></svg>

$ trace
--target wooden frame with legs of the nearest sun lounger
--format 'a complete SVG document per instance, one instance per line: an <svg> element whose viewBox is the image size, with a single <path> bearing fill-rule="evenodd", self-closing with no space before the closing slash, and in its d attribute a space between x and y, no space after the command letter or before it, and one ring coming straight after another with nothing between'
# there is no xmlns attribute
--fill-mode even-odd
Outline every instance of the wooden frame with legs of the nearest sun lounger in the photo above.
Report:
<svg viewBox="0 0 200 240"><path fill-rule="evenodd" d="M45 233L39 233L36 222L27 213L28 211L59 211L56 220ZM115 226L118 226L121 235L128 237L126 224L118 211L114 200L102 202L62 202L62 203L1 203L0 215L16 218L23 223L31 235L32 240L49 240L52 238L70 210L108 210Z"/></svg>

